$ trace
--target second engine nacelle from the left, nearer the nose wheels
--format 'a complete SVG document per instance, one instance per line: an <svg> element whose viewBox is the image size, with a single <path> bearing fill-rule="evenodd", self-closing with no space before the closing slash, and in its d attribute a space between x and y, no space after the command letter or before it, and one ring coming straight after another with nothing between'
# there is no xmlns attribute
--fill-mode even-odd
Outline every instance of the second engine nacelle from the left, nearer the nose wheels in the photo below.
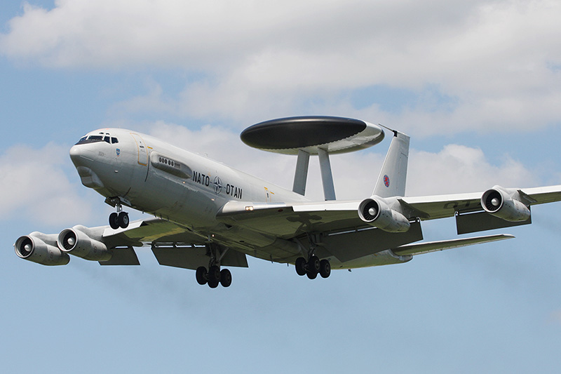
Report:
<svg viewBox="0 0 561 374"><path fill-rule="evenodd" d="M113 251L96 239L91 238L77 227L64 229L58 234L58 248L65 253L70 253L90 261L109 261Z"/></svg>

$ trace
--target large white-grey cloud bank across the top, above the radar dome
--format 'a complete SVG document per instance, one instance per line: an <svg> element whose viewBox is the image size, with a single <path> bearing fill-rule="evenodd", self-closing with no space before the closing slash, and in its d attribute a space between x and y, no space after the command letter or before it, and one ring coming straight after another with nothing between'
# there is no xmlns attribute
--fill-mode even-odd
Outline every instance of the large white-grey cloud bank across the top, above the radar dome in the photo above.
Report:
<svg viewBox="0 0 561 374"><path fill-rule="evenodd" d="M559 123L557 1L58 0L26 4L0 51L72 69L181 69L184 90L128 110L251 123L339 114L411 135L528 131ZM403 92L397 112L353 95ZM451 98L445 100L442 98Z"/></svg>

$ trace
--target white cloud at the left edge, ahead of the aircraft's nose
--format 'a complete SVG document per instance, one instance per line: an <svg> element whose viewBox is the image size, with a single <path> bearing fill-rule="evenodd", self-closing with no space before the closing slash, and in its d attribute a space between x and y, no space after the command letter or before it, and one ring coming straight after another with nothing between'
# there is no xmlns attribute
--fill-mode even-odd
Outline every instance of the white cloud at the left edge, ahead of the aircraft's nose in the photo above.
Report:
<svg viewBox="0 0 561 374"><path fill-rule="evenodd" d="M92 207L67 178L68 147L11 147L0 155L2 220L25 217L43 225L76 225L89 220ZM76 174L76 180L79 180Z"/></svg>

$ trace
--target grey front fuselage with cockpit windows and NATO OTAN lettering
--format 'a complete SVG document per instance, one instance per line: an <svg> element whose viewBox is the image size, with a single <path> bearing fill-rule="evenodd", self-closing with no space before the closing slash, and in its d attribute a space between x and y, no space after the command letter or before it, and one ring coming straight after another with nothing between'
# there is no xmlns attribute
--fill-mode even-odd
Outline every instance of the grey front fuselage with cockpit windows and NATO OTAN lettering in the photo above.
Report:
<svg viewBox="0 0 561 374"><path fill-rule="evenodd" d="M212 235L226 245L247 243L248 253L270 246L276 238L246 230L232 232L216 220L224 204L307 201L288 189L135 131L93 131L70 149L70 156L83 185L102 196L177 222L201 236ZM278 256L295 252L297 248L279 251Z"/></svg>

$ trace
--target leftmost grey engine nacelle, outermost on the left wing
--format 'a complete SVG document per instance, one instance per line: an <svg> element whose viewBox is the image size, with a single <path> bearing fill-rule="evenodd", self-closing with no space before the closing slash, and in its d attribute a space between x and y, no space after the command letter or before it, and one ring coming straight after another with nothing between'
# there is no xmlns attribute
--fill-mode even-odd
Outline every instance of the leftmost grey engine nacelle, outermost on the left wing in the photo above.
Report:
<svg viewBox="0 0 561 374"><path fill-rule="evenodd" d="M67 265L70 256L60 251L54 244L54 238L41 232L32 232L29 235L20 236L15 241L13 248L15 254L24 260L36 262L41 265ZM48 243L45 243L47 241Z"/></svg>

